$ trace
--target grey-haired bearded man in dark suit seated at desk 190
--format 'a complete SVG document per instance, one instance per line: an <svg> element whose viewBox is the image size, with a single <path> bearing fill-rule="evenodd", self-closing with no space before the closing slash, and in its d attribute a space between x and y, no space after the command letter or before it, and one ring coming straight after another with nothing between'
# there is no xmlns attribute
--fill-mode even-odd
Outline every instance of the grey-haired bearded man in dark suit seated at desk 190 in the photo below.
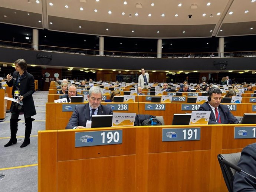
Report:
<svg viewBox="0 0 256 192"><path fill-rule="evenodd" d="M111 106L101 105L102 89L100 87L92 87L88 94L89 102L85 105L77 105L69 119L66 129L83 129L86 121L91 120L92 115L112 115Z"/></svg>

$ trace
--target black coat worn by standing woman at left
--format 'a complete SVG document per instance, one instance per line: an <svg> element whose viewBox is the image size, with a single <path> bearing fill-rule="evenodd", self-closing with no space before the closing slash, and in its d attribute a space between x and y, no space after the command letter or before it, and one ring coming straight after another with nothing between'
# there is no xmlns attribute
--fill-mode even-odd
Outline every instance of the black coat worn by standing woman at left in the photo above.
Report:
<svg viewBox="0 0 256 192"><path fill-rule="evenodd" d="M6 82L9 87L13 87L18 80L19 72L13 72L13 78L10 82ZM15 86L14 86L15 87ZM13 87L12 96L14 95L15 88ZM35 92L35 79L34 76L24 71L23 78L20 80L20 95L23 96L23 109L24 114L27 116L36 115L36 108L32 94ZM13 111L14 102L12 102L10 112Z"/></svg>

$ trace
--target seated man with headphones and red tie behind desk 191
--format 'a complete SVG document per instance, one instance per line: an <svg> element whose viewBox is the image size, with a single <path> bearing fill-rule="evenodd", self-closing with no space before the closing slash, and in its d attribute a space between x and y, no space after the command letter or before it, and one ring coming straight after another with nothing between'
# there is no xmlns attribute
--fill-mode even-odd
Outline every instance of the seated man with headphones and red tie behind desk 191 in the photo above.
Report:
<svg viewBox="0 0 256 192"><path fill-rule="evenodd" d="M208 102L205 102L198 111L210 111L208 124L237 124L239 120L230 112L229 107L221 105L222 92L219 88L212 87L208 91Z"/></svg>

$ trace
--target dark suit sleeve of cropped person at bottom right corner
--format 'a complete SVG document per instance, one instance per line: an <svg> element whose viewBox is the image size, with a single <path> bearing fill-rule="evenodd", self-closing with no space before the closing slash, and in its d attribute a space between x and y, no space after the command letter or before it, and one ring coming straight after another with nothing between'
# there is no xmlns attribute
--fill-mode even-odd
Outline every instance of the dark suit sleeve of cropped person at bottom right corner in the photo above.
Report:
<svg viewBox="0 0 256 192"><path fill-rule="evenodd" d="M256 143L246 146L241 153L241 159L237 166L244 172L256 177ZM255 192L256 179L246 176L242 172L236 172L233 182L233 192Z"/></svg>

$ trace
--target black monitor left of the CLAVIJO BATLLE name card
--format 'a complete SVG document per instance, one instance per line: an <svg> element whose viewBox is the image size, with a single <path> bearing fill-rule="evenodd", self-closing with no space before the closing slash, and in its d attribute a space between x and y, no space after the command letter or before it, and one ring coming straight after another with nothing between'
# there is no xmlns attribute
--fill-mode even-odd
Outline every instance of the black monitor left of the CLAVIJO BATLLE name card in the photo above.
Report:
<svg viewBox="0 0 256 192"><path fill-rule="evenodd" d="M91 128L108 128L112 126L113 115L92 115Z"/></svg>

